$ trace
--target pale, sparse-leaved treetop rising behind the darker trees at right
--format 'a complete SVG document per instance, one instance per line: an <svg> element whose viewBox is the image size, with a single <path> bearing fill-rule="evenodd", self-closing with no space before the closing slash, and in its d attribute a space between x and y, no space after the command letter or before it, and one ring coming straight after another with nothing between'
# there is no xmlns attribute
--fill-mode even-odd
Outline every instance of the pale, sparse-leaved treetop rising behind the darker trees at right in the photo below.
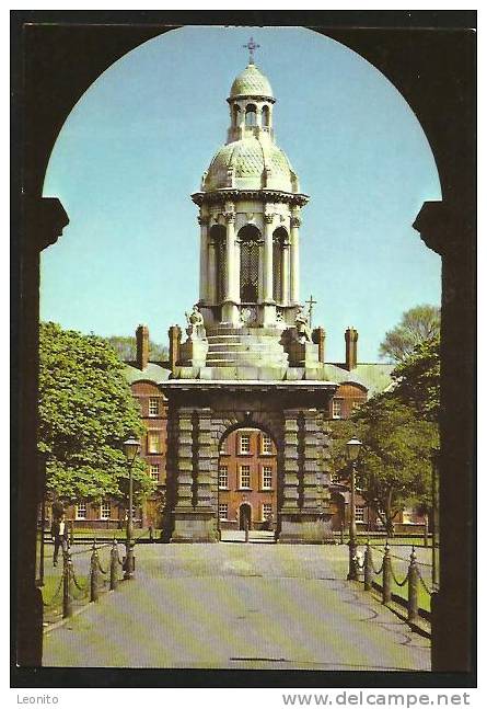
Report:
<svg viewBox="0 0 487 709"><path fill-rule="evenodd" d="M402 362L425 341L440 336L441 311L437 306L416 306L403 313L398 325L385 333L379 354Z"/></svg>

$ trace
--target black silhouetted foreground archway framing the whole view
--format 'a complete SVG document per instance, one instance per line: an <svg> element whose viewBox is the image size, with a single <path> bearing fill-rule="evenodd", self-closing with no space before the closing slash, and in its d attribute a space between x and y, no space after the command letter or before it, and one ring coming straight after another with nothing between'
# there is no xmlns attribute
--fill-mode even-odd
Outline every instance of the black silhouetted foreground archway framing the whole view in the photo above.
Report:
<svg viewBox="0 0 487 709"><path fill-rule="evenodd" d="M16 201L12 211L21 235L13 254L12 285L19 312L16 329L13 323L13 347L19 352L18 371L23 382L14 436L22 445L13 448L20 451L19 460L14 460L19 504L18 661L25 667L38 665L42 657L42 598L35 587L36 503L40 492L33 494L35 481L40 490L44 476L40 462L38 472L33 469L37 459L39 252L56 242L68 222L58 199L42 197L44 174L57 135L76 102L111 64L142 42L170 31L170 26L161 26L161 18L172 26L187 22L187 14L178 11L76 15L21 11L13 18L18 69L19 53L25 54L22 70L13 77L14 95L22 93L25 99L14 103L13 124L19 126L18 131L25 129L26 140L22 147L14 135L13 163L19 171L13 181ZM455 559L454 564L442 564L441 593L433 606L432 667L469 672L472 682L476 39L467 28L476 25L476 15L472 11L297 11L292 18L294 24L340 42L382 71L417 115L437 161L443 199L425 203L414 225L426 244L442 258L440 524L442 553ZM65 24L39 24L59 20ZM214 19L201 15L200 22L271 26L289 23L290 13L256 11L248 15L228 11ZM397 22L403 26L391 28ZM431 30L439 25L465 31ZM406 32L407 27L415 31ZM22 671L16 672L20 677ZM427 686L428 679L422 679ZM463 674L460 681L465 682Z"/></svg>

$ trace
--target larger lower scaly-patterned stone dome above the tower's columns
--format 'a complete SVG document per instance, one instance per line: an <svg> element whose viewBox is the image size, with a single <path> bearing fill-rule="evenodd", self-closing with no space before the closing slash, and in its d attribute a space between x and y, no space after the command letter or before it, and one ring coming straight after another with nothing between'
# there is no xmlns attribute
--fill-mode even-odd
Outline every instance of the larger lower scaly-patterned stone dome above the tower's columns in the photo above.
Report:
<svg viewBox="0 0 487 709"><path fill-rule="evenodd" d="M264 135L220 148L202 186L205 192L224 187L297 192L297 178L285 152Z"/></svg>

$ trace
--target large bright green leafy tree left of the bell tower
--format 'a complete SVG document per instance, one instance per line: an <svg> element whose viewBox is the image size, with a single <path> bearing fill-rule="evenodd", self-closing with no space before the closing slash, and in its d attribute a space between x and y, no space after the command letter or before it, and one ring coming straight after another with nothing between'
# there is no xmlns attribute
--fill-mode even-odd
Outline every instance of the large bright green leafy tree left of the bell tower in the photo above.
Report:
<svg viewBox="0 0 487 709"><path fill-rule="evenodd" d="M95 335L42 323L39 333L39 450L46 485L63 502L126 500L123 442L143 425L124 366ZM139 499L153 489L142 461L134 464Z"/></svg>

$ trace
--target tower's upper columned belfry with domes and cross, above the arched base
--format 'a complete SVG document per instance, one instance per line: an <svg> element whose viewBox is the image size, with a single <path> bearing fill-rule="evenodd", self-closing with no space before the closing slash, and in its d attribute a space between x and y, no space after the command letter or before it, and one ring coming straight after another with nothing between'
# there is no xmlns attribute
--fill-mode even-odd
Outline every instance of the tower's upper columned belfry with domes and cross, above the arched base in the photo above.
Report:
<svg viewBox="0 0 487 709"><path fill-rule="evenodd" d="M213 358L211 338L220 336L222 329L234 331L232 336L235 331L250 335L250 330L265 329L266 336L275 332L279 343L279 333L294 325L300 309L300 213L309 197L300 192L298 175L276 145L276 99L254 62L257 45L251 39L246 46L250 61L227 99L227 141L204 173L200 191L192 195L199 207L198 308L209 335L207 365ZM219 366L243 359L242 343L234 344L232 357L223 346L216 350ZM247 359L264 362L251 348ZM283 364L280 344L276 353L275 361Z"/></svg>

